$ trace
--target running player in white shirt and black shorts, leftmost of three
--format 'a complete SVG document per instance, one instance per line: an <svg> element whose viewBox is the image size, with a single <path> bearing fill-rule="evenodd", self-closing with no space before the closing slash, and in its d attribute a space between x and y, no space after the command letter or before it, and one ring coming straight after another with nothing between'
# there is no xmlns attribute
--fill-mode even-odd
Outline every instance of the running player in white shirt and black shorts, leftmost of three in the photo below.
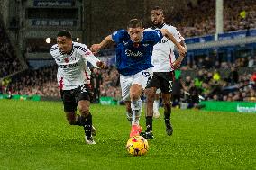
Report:
<svg viewBox="0 0 256 170"><path fill-rule="evenodd" d="M96 144L92 138L92 115L89 111L90 91L87 77L87 62L94 67L104 68L105 64L87 49L85 44L72 41L69 31L59 31L57 44L50 49L58 65L59 84L64 112L70 125L83 126L87 144ZM76 113L78 110L80 115Z"/></svg>

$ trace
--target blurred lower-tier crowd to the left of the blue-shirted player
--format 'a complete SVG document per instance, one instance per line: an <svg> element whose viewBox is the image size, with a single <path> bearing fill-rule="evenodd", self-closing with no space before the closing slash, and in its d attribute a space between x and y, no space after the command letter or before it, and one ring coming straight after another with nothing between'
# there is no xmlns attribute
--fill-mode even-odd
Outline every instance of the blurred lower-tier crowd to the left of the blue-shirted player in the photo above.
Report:
<svg viewBox="0 0 256 170"><path fill-rule="evenodd" d="M121 99L119 74L114 67L105 70L91 70L92 103L99 103L101 96ZM38 70L26 70L23 73L6 78L1 82L0 94L41 95L59 97L57 84L57 66Z"/></svg>

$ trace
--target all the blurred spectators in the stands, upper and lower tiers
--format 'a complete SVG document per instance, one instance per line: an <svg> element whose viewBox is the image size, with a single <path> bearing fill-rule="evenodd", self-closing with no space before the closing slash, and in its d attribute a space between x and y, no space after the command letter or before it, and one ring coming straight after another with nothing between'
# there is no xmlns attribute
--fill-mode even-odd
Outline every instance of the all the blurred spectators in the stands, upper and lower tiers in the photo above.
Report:
<svg viewBox="0 0 256 170"><path fill-rule="evenodd" d="M178 27L184 37L193 37L215 33L215 0L196 1L187 4L186 11L178 11L167 15L166 20ZM197 16L197 17L195 17ZM256 1L226 0L224 1L224 31L248 30L256 28ZM33 40L34 41L34 40ZM27 52L34 52L35 46L28 46ZM43 49L46 51L46 49ZM102 51L103 56L113 55L112 50ZM8 76L22 70L14 49L0 20L0 77ZM189 58L181 67L182 72L193 71L194 76L180 76L174 82L173 102L198 103L201 100L219 101L256 101L255 57L235 58L235 60L216 56ZM111 62L105 60L106 63ZM240 67L253 69L253 74L239 74ZM226 70L223 75L218 70ZM99 103L101 96L121 100L119 74L115 67L106 70L92 69L91 92L92 103ZM0 84L0 94L41 95L60 98L56 80L57 66L38 70L28 69L23 73L5 78Z"/></svg>

